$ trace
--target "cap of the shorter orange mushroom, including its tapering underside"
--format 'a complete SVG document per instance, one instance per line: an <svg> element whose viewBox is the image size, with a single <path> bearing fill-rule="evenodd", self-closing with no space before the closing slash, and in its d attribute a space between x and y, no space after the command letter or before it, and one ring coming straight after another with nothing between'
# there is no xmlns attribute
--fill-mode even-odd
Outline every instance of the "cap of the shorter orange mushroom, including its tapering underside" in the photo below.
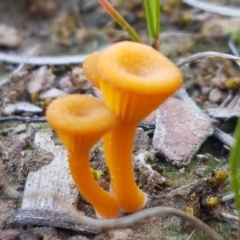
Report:
<svg viewBox="0 0 240 240"><path fill-rule="evenodd" d="M104 102L90 95L57 99L48 106L46 117L68 150L91 147L118 124L118 117Z"/></svg>

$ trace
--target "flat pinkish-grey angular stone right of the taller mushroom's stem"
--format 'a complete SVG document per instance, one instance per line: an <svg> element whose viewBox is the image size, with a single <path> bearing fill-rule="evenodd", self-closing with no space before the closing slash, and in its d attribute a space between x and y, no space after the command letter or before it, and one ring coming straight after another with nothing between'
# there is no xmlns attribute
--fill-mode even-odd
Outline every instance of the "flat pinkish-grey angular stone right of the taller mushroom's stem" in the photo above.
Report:
<svg viewBox="0 0 240 240"><path fill-rule="evenodd" d="M212 133L211 123L180 100L169 98L158 109L153 146L167 161L182 167Z"/></svg>

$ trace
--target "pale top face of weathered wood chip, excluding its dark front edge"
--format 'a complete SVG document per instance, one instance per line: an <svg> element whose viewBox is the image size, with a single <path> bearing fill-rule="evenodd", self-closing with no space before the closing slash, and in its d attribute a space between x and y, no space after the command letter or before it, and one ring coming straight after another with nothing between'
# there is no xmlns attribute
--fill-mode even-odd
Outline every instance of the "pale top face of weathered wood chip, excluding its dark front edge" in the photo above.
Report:
<svg viewBox="0 0 240 240"><path fill-rule="evenodd" d="M54 144L49 133L36 133L35 145L53 154L50 164L37 172L30 172L24 190L22 209L41 209L64 212L65 210L53 199L43 196L44 191L62 196L68 203L76 204L78 191L72 180L64 147ZM40 190L39 196L28 197Z"/></svg>

